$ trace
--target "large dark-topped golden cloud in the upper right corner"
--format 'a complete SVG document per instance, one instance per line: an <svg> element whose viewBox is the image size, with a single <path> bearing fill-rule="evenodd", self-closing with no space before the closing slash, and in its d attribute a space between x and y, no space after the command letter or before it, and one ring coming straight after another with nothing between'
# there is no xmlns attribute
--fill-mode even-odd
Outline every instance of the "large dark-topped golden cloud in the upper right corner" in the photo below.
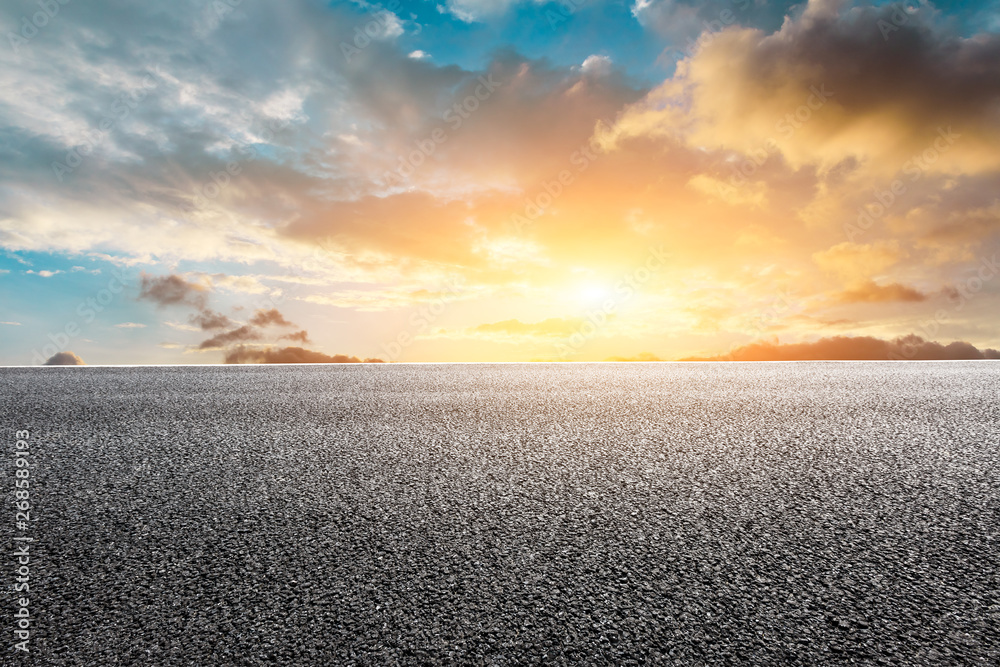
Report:
<svg viewBox="0 0 1000 667"><path fill-rule="evenodd" d="M1000 35L962 38L933 12L811 0L774 33L704 34L616 135L744 154L773 145L793 166L823 170L848 160L883 174L996 169Z"/></svg>

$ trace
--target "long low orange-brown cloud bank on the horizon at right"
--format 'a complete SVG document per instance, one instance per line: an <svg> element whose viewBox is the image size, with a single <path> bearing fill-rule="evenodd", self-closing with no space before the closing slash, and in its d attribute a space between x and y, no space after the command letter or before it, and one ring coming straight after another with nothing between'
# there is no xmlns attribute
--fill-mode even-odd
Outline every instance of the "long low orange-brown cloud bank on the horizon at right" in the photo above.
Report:
<svg viewBox="0 0 1000 667"><path fill-rule="evenodd" d="M955 341L944 345L908 335L894 340L870 336L834 336L813 343L779 344L757 342L738 347L716 357L692 357L684 361L884 361L910 359L936 361L957 359L1000 359L1000 351L979 350L971 343Z"/></svg>

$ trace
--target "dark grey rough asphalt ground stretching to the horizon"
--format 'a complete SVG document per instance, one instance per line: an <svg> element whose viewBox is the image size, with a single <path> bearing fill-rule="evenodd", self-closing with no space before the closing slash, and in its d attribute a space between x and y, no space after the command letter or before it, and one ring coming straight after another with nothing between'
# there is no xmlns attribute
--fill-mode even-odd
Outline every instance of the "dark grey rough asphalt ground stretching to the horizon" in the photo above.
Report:
<svg viewBox="0 0 1000 667"><path fill-rule="evenodd" d="M0 370L30 661L997 665L1000 363Z"/></svg>

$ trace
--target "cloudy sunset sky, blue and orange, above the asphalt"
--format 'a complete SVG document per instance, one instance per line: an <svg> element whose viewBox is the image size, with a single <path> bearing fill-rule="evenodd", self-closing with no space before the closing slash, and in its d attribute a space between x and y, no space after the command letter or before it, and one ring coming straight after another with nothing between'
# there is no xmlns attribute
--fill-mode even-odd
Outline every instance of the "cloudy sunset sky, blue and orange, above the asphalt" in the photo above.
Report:
<svg viewBox="0 0 1000 667"><path fill-rule="evenodd" d="M998 2L11 0L0 32L0 364L1000 347Z"/></svg>

